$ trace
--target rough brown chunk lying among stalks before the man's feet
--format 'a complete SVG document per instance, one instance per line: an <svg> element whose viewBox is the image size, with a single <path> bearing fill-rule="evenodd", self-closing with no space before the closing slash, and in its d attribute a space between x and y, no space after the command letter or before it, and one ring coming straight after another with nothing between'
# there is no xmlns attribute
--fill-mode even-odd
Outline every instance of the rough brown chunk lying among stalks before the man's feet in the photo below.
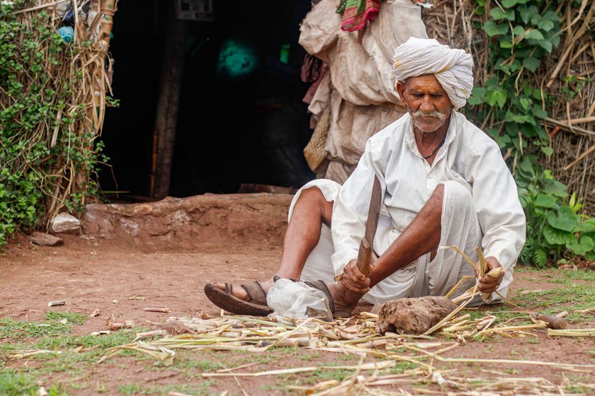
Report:
<svg viewBox="0 0 595 396"><path fill-rule="evenodd" d="M404 334L424 334L453 312L457 305L446 297L399 298L380 306L376 330Z"/></svg>

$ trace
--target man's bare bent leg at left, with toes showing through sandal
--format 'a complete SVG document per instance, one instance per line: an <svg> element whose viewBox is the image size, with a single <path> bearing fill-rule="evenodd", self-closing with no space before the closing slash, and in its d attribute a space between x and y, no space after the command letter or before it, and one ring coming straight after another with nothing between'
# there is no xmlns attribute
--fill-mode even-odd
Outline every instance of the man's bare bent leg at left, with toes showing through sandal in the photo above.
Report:
<svg viewBox="0 0 595 396"><path fill-rule="evenodd" d="M300 279L300 274L310 252L316 248L322 224L331 226L333 202L327 201L318 187L301 191L293 206L293 214L283 239L283 254L276 272L281 278ZM273 285L273 278L260 281L265 292ZM215 284L225 290L225 284ZM244 301L249 299L242 287L234 287L232 293Z"/></svg>

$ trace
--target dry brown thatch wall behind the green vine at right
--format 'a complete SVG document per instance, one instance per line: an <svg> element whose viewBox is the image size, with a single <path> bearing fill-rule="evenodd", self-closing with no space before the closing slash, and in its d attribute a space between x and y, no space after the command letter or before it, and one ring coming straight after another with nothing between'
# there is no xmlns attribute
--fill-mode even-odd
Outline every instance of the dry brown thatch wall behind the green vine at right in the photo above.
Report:
<svg viewBox="0 0 595 396"><path fill-rule="evenodd" d="M550 57L542 59L536 73L524 71L523 78L533 88L555 95L557 100L546 107L548 117L543 120L551 136L553 155L542 155L540 163L553 171L558 180L576 192L587 211L595 214L595 168L591 165L595 152L595 2L557 2L562 16L560 45ZM489 11L497 1L485 2ZM422 10L429 37L453 47L469 51L475 58L475 86L485 86L488 53L487 36L478 28L485 22L477 15L477 2L467 0L433 1L433 7ZM487 11L485 11L487 13ZM489 16L488 16L489 18ZM574 98L570 93L576 92ZM485 127L492 127L487 120Z"/></svg>

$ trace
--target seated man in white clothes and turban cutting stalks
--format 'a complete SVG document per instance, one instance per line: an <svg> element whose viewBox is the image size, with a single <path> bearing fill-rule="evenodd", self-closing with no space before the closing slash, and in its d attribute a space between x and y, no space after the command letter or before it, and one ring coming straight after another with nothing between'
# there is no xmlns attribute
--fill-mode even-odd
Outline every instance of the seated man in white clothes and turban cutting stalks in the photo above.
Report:
<svg viewBox="0 0 595 396"><path fill-rule="evenodd" d="M410 38L395 50L393 71L408 114L368 139L343 186L312 180L289 210L276 276L310 281L330 297L336 316L350 315L361 298L444 296L473 269L441 246L456 245L474 260L475 248L482 248L488 270L505 271L484 276L479 289L505 296L525 241L525 216L499 147L455 111L472 90L472 57L436 40ZM383 197L373 241L378 259L364 276L356 257L375 176ZM235 288L208 284L205 293L229 312L266 315L266 291L275 279Z"/></svg>

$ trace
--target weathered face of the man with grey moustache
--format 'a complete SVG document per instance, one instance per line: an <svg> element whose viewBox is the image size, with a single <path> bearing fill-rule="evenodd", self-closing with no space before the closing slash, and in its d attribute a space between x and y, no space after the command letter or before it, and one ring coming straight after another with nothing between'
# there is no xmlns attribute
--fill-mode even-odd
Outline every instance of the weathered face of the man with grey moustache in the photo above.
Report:
<svg viewBox="0 0 595 396"><path fill-rule="evenodd" d="M448 94L433 74L409 77L405 83L397 83L397 91L421 132L442 127L453 109Z"/></svg>

